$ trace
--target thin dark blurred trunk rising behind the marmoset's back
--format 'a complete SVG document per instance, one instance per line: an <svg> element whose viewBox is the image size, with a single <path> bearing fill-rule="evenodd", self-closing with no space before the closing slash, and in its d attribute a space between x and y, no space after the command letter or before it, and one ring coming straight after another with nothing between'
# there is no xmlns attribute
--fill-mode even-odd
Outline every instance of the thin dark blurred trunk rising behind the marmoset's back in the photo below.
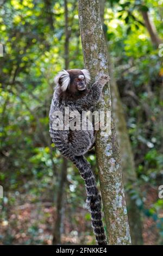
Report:
<svg viewBox="0 0 163 256"><path fill-rule="evenodd" d="M68 32L68 8L67 8L67 0L64 0L65 6L65 69L68 69L69 66L69 41L70 41L70 33ZM57 218L55 221L55 227L53 230L53 245L59 245L61 243L61 222L62 222L62 213L64 198L65 198L65 186L66 186L66 177L67 177L67 159L63 157L62 168L60 173L60 180L58 186L58 194L57 194Z"/></svg>

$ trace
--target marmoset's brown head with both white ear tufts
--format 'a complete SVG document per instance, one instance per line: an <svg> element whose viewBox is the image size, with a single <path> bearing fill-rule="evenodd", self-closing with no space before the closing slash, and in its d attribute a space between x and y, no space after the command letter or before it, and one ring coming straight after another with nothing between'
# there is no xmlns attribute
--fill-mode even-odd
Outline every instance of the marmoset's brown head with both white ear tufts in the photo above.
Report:
<svg viewBox="0 0 163 256"><path fill-rule="evenodd" d="M82 96L87 91L90 73L86 69L62 70L54 79L62 95Z"/></svg>

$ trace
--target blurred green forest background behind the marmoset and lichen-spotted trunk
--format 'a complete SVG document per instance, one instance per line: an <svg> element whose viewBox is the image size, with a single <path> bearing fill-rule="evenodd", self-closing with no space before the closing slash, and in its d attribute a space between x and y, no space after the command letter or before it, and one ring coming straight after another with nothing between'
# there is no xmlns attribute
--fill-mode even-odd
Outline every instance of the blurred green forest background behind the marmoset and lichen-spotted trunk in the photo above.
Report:
<svg viewBox="0 0 163 256"><path fill-rule="evenodd" d="M163 0L100 2L105 2L103 29L112 66L111 88L118 88L115 103L125 117L117 123L121 130L126 120L122 137L130 138L127 154L134 168L131 173L136 174L130 179L129 167L124 185L129 202L139 210L143 243L160 245ZM4 46L0 57L0 185L4 190L0 244L51 245L60 239L62 244L95 244L84 182L73 164L62 159L48 132L54 76L63 68L83 68L78 1L1 0L0 4ZM125 141L121 141L122 156ZM95 153L87 159L97 174ZM127 161L122 158L123 169Z"/></svg>

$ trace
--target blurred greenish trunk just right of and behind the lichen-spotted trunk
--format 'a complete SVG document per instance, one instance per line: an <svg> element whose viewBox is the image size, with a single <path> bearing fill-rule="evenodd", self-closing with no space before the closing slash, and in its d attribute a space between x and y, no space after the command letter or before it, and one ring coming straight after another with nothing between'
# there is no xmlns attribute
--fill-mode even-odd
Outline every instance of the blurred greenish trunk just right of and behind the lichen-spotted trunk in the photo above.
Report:
<svg viewBox="0 0 163 256"><path fill-rule="evenodd" d="M104 22L104 9L105 9L105 0L99 1L100 15L102 24ZM110 59L110 55L109 55ZM111 100L112 100L112 115L115 121L115 127L117 132L118 144L120 145L121 153L121 163L122 163L122 175L124 180L124 188L129 184L132 185L132 190L135 190L135 193L138 193L138 188L136 187L136 172L135 172L135 163L134 156L131 150L130 139L128 135L126 120L123 113L123 106L118 92L116 80L114 77L113 64L110 59L109 63L109 74L111 77L110 80L110 90L111 90ZM126 203L128 210L129 226L131 241L133 245L142 245L142 225L141 225L141 214L140 210L136 205L134 199L131 199L130 190L126 191Z"/></svg>

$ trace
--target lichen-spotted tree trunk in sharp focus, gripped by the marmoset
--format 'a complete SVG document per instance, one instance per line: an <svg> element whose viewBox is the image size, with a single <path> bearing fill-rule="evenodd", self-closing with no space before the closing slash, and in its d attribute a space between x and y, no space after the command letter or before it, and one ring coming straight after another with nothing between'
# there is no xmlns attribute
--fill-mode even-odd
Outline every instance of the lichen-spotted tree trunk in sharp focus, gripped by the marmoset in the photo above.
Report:
<svg viewBox="0 0 163 256"><path fill-rule="evenodd" d="M85 67L93 80L99 75L108 75L107 49L101 24L99 2L79 0L79 22ZM98 111L111 111L109 84L105 86ZM97 167L101 185L106 231L110 245L129 245L130 232L124 198L120 154L111 114L110 133L103 136L98 131L96 139Z"/></svg>

